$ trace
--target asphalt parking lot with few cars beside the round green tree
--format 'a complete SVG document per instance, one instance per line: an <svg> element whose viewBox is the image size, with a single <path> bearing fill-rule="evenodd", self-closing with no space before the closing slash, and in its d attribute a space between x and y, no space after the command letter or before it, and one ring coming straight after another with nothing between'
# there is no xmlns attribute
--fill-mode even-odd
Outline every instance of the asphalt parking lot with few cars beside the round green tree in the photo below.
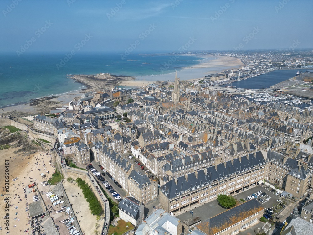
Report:
<svg viewBox="0 0 313 235"><path fill-rule="evenodd" d="M262 191L265 192L266 195L263 197L258 197L259 203L262 204L262 206L264 206L266 209L267 208L272 208L273 206L277 205L278 202L276 201L277 199L282 200L279 196L276 196L274 193L272 193L271 191L265 189L264 187L262 187L261 185L257 185L251 189L246 189L245 191L238 193L236 195L234 195L234 198L236 198L238 201L240 201L240 199L245 199L246 197L252 195L253 193L255 194L258 191ZM269 198L270 197L270 198ZM262 202L263 201L263 202ZM281 210L280 210L281 211ZM279 212L280 212L279 211Z"/></svg>

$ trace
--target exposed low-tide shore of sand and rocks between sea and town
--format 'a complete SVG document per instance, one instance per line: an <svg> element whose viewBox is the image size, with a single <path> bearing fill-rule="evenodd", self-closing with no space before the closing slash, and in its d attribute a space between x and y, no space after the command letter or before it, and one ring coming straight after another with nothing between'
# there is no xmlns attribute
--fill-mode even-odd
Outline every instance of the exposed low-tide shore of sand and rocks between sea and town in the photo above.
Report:
<svg viewBox="0 0 313 235"><path fill-rule="evenodd" d="M184 55L179 55L184 56ZM190 55L188 55L190 56ZM203 78L204 76L212 73L222 72L227 69L238 69L239 66L242 66L243 63L234 57L228 56L210 56L210 55L193 55L202 57L203 59L199 64L181 68L177 72L177 76L181 80L196 80ZM208 60L207 58L211 58ZM214 58L214 59L212 59ZM142 87L148 84L154 83L157 80L159 81L174 81L175 72L160 74L154 76L138 76L138 77L129 77L129 76L115 76L113 78L101 78L95 75L67 75L70 79L73 79L75 82L78 82L85 86L84 88L76 91L69 91L63 94L57 94L53 96L45 96L38 98L39 101L35 102L35 105L31 105L32 102L38 101L34 99L31 102L20 103L18 105L6 106L0 108L0 114L2 115L14 115L14 116L27 116L35 115L40 112L46 112L56 107L61 107L62 105L68 105L68 103L74 98L80 97L81 94L89 91L110 91L114 86L126 86L126 87Z"/></svg>

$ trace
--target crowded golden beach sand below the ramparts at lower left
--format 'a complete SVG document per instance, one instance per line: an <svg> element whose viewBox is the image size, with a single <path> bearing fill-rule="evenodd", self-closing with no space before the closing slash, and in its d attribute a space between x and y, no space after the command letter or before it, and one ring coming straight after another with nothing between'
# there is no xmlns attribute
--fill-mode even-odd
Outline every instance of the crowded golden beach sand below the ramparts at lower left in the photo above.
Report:
<svg viewBox="0 0 313 235"><path fill-rule="evenodd" d="M44 186L41 185L41 181L43 179L41 178L40 174L45 173L47 175L47 178L49 179L52 175L52 172L54 171L54 167L49 164L49 160L51 160L51 157L49 155L43 155L44 152L37 152L35 154L26 155L26 154L15 154L14 151L18 150L18 148L9 148L5 150L0 150L0 172L3 174L3 176L0 177L0 185L4 186L5 179L4 179L4 169L5 169L5 160L9 160L9 173L10 173L10 179L9 179L9 192L4 192L1 189L1 193L3 194L10 194L9 196L9 203L12 205L9 207L10 211L10 225L9 225L9 234L31 234L31 231L29 231L30 224L28 224L28 212L26 210L26 199L24 198L24 191L23 188L26 188L28 190L28 184L32 184L35 179L36 183L38 185L38 190L45 191ZM42 154L42 156L40 156ZM14 159L15 158L15 159ZM36 165L37 160L41 161ZM46 164L46 170L44 170L44 167L42 167L42 162ZM41 169L39 171L39 169ZM49 174L46 173L46 171L49 171ZM18 178L15 181L12 181L14 178ZM33 179L29 179L29 177L33 177ZM33 181L33 182L31 182ZM47 186L46 186L47 188ZM17 196L15 196L15 194ZM18 196L20 196L18 198ZM45 196L45 195L44 195ZM0 198L2 201L4 200L4 197ZM20 201L21 199L21 201ZM32 199L32 198L31 198ZM28 200L29 203L29 200ZM18 206L17 209L15 207ZM2 215L4 216L4 203L0 204L0 211L2 212ZM17 213L17 215L15 215ZM19 220L19 221L18 221ZM6 234L8 230L4 229L3 220L1 220L2 230L0 230L0 235ZM16 225L16 227L14 227ZM28 232L21 232L28 230Z"/></svg>

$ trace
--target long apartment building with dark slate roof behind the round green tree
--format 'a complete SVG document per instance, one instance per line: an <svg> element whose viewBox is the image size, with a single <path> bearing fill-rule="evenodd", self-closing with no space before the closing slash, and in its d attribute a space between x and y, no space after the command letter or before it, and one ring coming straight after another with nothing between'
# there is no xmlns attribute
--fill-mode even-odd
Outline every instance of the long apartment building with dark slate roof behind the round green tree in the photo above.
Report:
<svg viewBox="0 0 313 235"><path fill-rule="evenodd" d="M259 151L169 180L160 187L159 203L168 212L190 210L192 205L213 201L266 176L266 153Z"/></svg>

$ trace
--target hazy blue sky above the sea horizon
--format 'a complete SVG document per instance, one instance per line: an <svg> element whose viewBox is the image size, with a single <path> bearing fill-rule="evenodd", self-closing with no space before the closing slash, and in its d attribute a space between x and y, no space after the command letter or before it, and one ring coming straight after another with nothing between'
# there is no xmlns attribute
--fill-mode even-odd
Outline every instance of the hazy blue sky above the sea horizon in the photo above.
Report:
<svg viewBox="0 0 313 235"><path fill-rule="evenodd" d="M313 48L309 0L1 0L0 52Z"/></svg>

